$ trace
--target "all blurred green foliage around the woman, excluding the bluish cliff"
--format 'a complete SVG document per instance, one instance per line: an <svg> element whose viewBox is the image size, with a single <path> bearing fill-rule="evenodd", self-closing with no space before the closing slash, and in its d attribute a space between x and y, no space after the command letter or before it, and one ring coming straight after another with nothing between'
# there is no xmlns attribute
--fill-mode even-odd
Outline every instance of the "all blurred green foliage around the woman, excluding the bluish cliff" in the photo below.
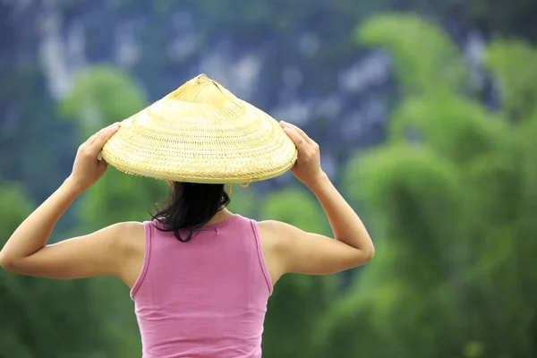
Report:
<svg viewBox="0 0 537 358"><path fill-rule="evenodd" d="M248 4L261 17L262 3ZM491 112L456 45L433 23L380 14L356 38L388 51L399 86L388 140L355 155L338 184L368 217L377 254L345 292L337 277L283 277L268 303L264 356L537 356L537 50L519 40L490 43L485 62L502 90ZM60 108L83 141L147 104L124 72L96 66ZM109 170L77 206L79 228L55 237L147 219L166 191ZM17 185L0 183L0 237L32 206ZM303 188L261 197L234 187L230 209L329 234ZM132 302L116 280L0 272L0 290L2 357L140 355Z"/></svg>

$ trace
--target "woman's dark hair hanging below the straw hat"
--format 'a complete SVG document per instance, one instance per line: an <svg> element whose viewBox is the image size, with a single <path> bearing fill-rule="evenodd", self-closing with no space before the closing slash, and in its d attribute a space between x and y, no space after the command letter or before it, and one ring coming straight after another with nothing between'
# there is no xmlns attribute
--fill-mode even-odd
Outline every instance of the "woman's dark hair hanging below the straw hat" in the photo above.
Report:
<svg viewBox="0 0 537 358"><path fill-rule="evenodd" d="M177 240L187 243L219 210L226 208L229 201L224 184L172 182L166 209L152 217L161 224L158 230L173 231ZM188 236L181 237L179 230L188 230Z"/></svg>

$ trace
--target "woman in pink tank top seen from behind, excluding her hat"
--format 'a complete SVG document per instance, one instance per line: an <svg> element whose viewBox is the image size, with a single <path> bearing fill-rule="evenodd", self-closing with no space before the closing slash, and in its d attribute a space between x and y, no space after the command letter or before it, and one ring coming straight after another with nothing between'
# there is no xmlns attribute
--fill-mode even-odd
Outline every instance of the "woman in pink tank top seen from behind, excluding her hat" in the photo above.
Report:
<svg viewBox="0 0 537 358"><path fill-rule="evenodd" d="M231 213L224 184L171 181L169 205L153 220L47 245L72 201L105 173L98 155L121 127L113 124L81 145L72 174L17 228L0 264L36 277L120 278L131 289L146 358L260 357L268 297L280 277L337 273L374 253L360 218L322 171L319 146L293 124L280 125L298 150L291 171L320 201L333 239Z"/></svg>

